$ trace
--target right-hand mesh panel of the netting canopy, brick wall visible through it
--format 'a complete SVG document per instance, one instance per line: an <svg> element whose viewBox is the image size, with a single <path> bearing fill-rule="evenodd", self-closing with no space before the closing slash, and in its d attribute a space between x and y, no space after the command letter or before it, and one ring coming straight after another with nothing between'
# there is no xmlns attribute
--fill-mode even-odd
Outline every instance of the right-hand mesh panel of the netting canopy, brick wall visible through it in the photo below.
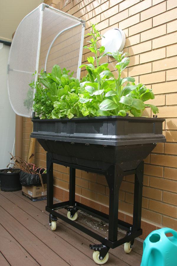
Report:
<svg viewBox="0 0 177 266"><path fill-rule="evenodd" d="M66 28L78 24L79 21L46 8L42 23L42 37L39 70L45 67L48 49L57 34ZM74 71L76 77L78 69L79 51L81 45L81 24L73 29L61 33L52 45L47 60L46 71L51 72L52 66L58 64Z"/></svg>

